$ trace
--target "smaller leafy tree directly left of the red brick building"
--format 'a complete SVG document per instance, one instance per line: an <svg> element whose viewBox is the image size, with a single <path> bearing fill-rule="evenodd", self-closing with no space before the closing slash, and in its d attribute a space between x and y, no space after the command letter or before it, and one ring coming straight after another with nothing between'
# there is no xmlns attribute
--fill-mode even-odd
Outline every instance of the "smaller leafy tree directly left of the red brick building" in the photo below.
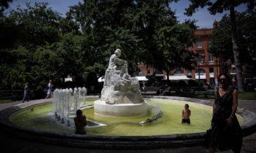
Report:
<svg viewBox="0 0 256 153"><path fill-rule="evenodd" d="M193 25L193 27L191 27ZM195 54L186 50L186 44L195 41L195 21L187 20L182 24L162 27L158 31L158 48L163 53L162 69L169 72L177 67L193 69Z"/></svg>

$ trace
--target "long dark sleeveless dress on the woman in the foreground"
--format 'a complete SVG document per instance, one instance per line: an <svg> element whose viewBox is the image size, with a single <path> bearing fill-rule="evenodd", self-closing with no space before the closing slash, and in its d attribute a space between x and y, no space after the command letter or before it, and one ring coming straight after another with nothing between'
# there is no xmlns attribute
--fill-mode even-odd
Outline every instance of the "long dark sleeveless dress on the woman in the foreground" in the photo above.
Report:
<svg viewBox="0 0 256 153"><path fill-rule="evenodd" d="M227 125L226 119L229 118L232 112L233 90L230 88L225 95L221 97L218 92L215 94L216 108L212 118L212 135L210 147L218 148L218 150L232 149L234 152L240 152L242 146L242 133L238 118L233 116L233 124Z"/></svg>

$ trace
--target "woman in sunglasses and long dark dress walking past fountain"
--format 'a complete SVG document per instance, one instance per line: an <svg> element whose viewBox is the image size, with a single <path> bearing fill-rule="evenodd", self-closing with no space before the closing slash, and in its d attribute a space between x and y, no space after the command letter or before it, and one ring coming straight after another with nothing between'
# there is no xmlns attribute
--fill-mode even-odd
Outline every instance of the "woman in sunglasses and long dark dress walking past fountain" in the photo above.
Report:
<svg viewBox="0 0 256 153"><path fill-rule="evenodd" d="M218 87L213 104L212 133L209 152L233 150L238 153L242 147L241 127L236 118L238 89L231 86L229 75L218 76Z"/></svg>

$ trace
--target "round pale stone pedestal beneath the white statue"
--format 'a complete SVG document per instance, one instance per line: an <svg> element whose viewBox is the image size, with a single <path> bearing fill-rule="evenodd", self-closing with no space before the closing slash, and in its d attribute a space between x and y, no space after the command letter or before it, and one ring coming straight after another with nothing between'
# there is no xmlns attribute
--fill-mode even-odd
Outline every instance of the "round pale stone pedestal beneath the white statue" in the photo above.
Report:
<svg viewBox="0 0 256 153"><path fill-rule="evenodd" d="M107 116L143 116L147 114L147 102L106 104L106 101L94 101L94 113Z"/></svg>

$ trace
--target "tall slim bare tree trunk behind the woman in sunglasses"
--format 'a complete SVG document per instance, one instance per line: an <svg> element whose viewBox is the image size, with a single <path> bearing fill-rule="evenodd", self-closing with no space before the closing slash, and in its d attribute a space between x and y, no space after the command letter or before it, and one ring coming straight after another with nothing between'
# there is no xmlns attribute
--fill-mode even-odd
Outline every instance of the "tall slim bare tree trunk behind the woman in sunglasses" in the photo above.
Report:
<svg viewBox="0 0 256 153"><path fill-rule="evenodd" d="M235 60L236 65L236 79L238 80L238 90L240 92L244 92L244 84L243 80L244 77L242 75L241 63L239 59L239 50L238 50L238 35L236 32L236 18L235 18L235 8L234 6L230 7L230 18L231 18L231 37L232 37L232 44L233 44L233 58Z"/></svg>

